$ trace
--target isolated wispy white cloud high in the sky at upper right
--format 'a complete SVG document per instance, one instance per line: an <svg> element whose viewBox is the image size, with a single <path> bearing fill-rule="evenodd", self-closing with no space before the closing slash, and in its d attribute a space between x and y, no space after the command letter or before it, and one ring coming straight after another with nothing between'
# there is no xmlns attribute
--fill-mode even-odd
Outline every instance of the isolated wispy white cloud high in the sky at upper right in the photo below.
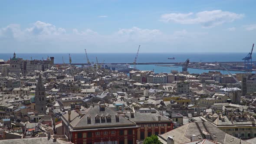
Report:
<svg viewBox="0 0 256 144"><path fill-rule="evenodd" d="M229 11L212 10L198 13L166 13L161 15L161 21L181 24L201 24L203 27L214 27L243 18L243 14Z"/></svg>

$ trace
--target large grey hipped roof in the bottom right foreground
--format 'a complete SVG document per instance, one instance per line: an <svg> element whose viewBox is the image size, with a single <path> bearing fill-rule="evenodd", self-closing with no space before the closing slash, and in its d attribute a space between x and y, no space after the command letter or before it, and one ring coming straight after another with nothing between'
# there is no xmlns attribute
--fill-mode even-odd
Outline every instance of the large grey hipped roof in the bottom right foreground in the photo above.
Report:
<svg viewBox="0 0 256 144"><path fill-rule="evenodd" d="M210 122L191 122L158 135L163 144L249 144L213 126ZM202 143L202 140L209 143Z"/></svg>

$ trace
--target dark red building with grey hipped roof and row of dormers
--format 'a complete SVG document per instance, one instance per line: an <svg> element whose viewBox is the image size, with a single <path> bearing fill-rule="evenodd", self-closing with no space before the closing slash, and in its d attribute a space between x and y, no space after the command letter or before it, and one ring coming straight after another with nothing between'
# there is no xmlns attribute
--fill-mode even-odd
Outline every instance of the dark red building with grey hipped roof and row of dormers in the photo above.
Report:
<svg viewBox="0 0 256 144"><path fill-rule="evenodd" d="M105 106L62 115L63 134L74 144L135 144L138 126Z"/></svg>

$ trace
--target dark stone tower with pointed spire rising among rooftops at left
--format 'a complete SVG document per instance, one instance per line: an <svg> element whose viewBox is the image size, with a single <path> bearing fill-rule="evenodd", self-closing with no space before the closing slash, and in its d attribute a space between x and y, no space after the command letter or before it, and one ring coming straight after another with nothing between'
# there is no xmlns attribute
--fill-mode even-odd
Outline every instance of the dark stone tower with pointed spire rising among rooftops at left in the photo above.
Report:
<svg viewBox="0 0 256 144"><path fill-rule="evenodd" d="M35 106L36 111L46 114L46 90L44 88L41 75L39 75L36 85Z"/></svg>

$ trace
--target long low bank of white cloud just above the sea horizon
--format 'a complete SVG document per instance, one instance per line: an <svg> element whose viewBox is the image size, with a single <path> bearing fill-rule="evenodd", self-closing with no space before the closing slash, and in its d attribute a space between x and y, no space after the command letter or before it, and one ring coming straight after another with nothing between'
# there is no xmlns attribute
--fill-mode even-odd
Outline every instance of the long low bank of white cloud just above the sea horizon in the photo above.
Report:
<svg viewBox="0 0 256 144"><path fill-rule="evenodd" d="M120 28L113 33L102 35L92 29L79 30L74 28L72 31L66 31L66 29L51 23L37 21L25 29L21 29L19 24L0 28L0 47L22 45L23 52L39 52L39 49L34 49L35 47L41 48L42 52L63 52L64 49L68 52L70 48L84 46L98 48L126 46L127 49L125 50L129 52L128 47L137 44L173 45L197 36L199 36L198 33L187 32L185 29L168 34L159 29L143 29L136 26ZM16 49L16 47L14 46L12 49ZM98 50L95 51L98 52Z"/></svg>

